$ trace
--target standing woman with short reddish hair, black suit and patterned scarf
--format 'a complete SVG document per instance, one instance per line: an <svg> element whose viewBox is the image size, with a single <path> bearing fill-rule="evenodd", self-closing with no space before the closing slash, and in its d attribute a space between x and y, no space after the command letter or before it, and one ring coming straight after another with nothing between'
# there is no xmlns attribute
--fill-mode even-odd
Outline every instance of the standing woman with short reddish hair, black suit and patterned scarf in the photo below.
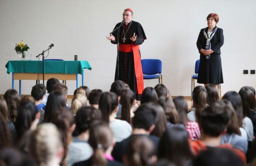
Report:
<svg viewBox="0 0 256 166"><path fill-rule="evenodd" d="M223 29L218 28L219 17L215 13L207 16L207 28L201 29L196 45L200 53L198 83L208 84L223 83L221 68L221 46L224 43Z"/></svg>

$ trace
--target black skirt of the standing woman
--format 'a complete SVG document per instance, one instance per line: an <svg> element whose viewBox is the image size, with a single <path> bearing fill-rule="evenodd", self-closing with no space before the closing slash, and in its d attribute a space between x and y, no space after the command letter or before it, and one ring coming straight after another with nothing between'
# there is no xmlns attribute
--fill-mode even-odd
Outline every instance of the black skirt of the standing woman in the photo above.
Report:
<svg viewBox="0 0 256 166"><path fill-rule="evenodd" d="M198 72L199 84L223 84L221 67L221 55L212 53L209 59L200 54L200 65Z"/></svg>

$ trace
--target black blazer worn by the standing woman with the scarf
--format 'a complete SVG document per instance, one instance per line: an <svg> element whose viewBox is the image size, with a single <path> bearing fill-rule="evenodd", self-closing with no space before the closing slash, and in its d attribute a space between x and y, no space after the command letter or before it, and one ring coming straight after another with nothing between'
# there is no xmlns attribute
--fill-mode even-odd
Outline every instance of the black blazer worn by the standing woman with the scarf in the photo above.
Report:
<svg viewBox="0 0 256 166"><path fill-rule="evenodd" d="M215 28L217 28L217 26L215 26L213 28L213 30ZM204 28L204 29L207 33L208 27ZM200 50L202 48L205 49L205 46L206 46L206 38L204 37L204 29L201 29L201 31L198 35L198 40L196 42L196 45L197 45L197 48L198 48L198 51L200 54L202 54L200 52ZM214 51L214 53L221 54L221 46L224 44L223 29L218 28L210 42L211 42L211 49Z"/></svg>

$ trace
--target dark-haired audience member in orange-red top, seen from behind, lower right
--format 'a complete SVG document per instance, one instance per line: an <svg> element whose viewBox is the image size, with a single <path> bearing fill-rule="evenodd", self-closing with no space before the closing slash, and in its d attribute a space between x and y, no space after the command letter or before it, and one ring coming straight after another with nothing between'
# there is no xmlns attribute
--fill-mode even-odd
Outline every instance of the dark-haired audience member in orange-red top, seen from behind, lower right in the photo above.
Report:
<svg viewBox="0 0 256 166"><path fill-rule="evenodd" d="M233 149L229 143L221 145L221 137L226 132L227 125L230 121L227 109L228 107L223 101L218 101L202 111L199 117L199 126L202 131L201 140L189 140L189 143L195 155L198 155L202 150L210 148L232 149L245 164L245 155L241 150Z"/></svg>

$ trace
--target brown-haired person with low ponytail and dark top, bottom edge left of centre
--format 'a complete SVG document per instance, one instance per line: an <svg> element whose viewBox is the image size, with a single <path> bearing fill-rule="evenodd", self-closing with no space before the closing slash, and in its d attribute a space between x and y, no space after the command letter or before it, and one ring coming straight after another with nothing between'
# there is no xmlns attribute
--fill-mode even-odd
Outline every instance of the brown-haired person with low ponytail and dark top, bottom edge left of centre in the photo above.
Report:
<svg viewBox="0 0 256 166"><path fill-rule="evenodd" d="M89 144L93 156L88 160L75 163L73 166L122 166L111 156L115 139L113 132L106 124L96 124L90 129Z"/></svg>

